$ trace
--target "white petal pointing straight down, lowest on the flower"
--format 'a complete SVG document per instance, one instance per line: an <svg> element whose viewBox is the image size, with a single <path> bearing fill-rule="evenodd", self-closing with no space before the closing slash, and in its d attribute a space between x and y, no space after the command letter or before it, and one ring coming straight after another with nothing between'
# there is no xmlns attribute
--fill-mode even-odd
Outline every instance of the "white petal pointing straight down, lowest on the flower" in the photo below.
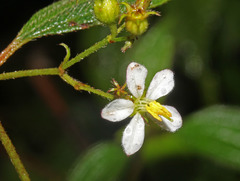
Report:
<svg viewBox="0 0 240 181"><path fill-rule="evenodd" d="M127 155L137 152L143 144L145 123L139 113L137 113L123 132L122 146Z"/></svg>

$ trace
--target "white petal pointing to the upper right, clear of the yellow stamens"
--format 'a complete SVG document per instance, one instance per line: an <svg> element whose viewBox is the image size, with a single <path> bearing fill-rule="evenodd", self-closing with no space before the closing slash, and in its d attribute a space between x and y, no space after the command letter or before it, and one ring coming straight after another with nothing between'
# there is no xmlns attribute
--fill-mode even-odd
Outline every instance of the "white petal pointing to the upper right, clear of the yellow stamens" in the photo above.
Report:
<svg viewBox="0 0 240 181"><path fill-rule="evenodd" d="M167 95L174 87L173 72L169 69L157 72L147 90L146 98L156 100Z"/></svg>

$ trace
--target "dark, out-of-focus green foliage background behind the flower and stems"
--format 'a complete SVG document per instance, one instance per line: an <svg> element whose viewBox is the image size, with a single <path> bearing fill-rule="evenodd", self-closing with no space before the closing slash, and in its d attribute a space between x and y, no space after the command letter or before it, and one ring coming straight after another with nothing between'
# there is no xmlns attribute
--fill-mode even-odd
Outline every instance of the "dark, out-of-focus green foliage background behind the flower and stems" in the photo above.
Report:
<svg viewBox="0 0 240 181"><path fill-rule="evenodd" d="M19 24L46 6L24 3L12 0L0 7L9 9L2 26L11 27L0 30L1 49ZM69 70L79 80L108 90L111 78L125 82L132 61L148 68L147 84L157 71L173 69L176 86L165 103L180 111L183 127L170 134L146 126L143 148L131 157L121 151L121 134L113 139L128 121L114 124L100 117L106 101L52 77L1 82L0 119L32 180L239 180L239 7L239 0L172 0L157 9L160 18L150 17L149 31L125 54L120 51L123 44L112 44ZM18 9L25 9L24 16L16 15ZM68 44L74 55L108 33L107 27L94 27L31 42L1 71L58 65L65 52L56 44ZM32 63L34 59L38 61ZM17 180L15 174L0 146L0 180Z"/></svg>

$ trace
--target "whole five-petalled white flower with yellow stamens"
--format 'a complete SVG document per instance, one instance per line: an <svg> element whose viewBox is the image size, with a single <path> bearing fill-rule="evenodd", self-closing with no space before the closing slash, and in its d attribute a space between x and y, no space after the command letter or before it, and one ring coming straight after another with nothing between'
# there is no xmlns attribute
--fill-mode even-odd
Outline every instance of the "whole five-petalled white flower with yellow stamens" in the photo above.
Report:
<svg viewBox="0 0 240 181"><path fill-rule="evenodd" d="M150 114L152 119L163 129L175 132L182 126L179 112L171 106L161 105L155 100L167 95L174 87L173 72L165 69L157 72L150 86L144 93L147 69L132 62L127 67L127 87L134 96L133 100L115 99L103 110L102 117L112 122L122 121L134 115L123 132L122 146L127 155L137 152L144 141L144 116Z"/></svg>

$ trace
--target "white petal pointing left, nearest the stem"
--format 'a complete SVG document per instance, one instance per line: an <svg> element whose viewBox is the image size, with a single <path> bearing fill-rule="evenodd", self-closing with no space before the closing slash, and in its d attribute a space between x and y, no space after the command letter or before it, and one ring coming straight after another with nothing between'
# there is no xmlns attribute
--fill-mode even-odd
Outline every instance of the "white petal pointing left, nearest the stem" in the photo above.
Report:
<svg viewBox="0 0 240 181"><path fill-rule="evenodd" d="M102 118L112 122L121 121L133 113L134 104L130 100L115 99L106 105L101 113Z"/></svg>

